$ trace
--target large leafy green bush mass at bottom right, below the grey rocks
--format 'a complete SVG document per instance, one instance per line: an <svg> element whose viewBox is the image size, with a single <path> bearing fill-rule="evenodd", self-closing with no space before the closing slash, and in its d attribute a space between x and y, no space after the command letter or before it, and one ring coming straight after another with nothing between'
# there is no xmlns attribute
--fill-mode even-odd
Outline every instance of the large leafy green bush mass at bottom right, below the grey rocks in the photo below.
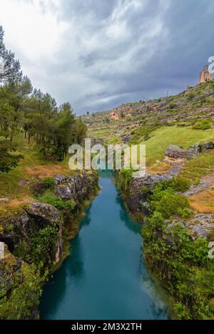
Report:
<svg viewBox="0 0 214 334"><path fill-rule="evenodd" d="M173 295L179 319L212 319L214 263L208 259L208 241L190 238L180 223L169 228L155 212L142 229L147 259Z"/></svg>

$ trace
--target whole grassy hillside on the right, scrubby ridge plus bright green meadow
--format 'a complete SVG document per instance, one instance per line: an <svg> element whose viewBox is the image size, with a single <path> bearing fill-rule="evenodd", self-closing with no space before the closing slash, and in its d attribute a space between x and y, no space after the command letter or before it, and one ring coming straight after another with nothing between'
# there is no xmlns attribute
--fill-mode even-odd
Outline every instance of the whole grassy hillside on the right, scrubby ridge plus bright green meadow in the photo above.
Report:
<svg viewBox="0 0 214 334"><path fill-rule="evenodd" d="M168 172L171 165L163 162L168 145L185 149L197 142L214 140L214 80L187 87L178 95L126 103L82 119L88 125L88 136L103 144L146 145L148 172ZM211 151L186 161L180 175L197 184L206 176L211 180L213 171L214 152ZM195 212L214 214L213 192L210 181L208 189L190 196Z"/></svg>

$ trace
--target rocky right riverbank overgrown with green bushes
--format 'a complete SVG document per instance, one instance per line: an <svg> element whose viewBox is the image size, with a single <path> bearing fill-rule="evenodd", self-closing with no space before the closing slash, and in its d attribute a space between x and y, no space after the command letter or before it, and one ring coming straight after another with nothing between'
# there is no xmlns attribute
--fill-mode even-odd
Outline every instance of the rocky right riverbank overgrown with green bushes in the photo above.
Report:
<svg viewBox="0 0 214 334"><path fill-rule="evenodd" d="M214 271L208 257L212 229L209 219L195 229L194 212L182 194L190 187L188 180L170 174L132 179L130 171L121 171L117 184L132 214L143 221L146 261L170 293L170 308L175 316L213 319Z"/></svg>

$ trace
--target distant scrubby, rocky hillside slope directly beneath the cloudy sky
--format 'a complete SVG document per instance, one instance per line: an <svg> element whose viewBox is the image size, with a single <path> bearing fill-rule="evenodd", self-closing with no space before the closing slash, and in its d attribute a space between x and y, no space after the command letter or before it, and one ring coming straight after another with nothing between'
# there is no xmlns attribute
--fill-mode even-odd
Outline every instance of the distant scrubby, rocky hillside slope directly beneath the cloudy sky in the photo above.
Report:
<svg viewBox="0 0 214 334"><path fill-rule="evenodd" d="M112 119L113 114L118 116L118 120ZM178 95L127 103L108 112L81 118L88 126L88 135L104 143L121 143L125 136L138 143L148 139L152 130L162 126L197 127L200 120L213 121L214 80L187 87ZM195 135L198 133L195 132Z"/></svg>

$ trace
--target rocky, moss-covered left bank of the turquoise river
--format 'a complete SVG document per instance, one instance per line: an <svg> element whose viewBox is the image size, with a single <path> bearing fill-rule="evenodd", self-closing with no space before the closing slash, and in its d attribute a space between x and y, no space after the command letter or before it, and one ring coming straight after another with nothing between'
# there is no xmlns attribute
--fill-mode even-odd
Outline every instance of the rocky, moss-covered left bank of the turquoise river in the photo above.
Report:
<svg viewBox="0 0 214 334"><path fill-rule="evenodd" d="M84 201L98 190L98 175L58 174L37 179L29 187L34 201L1 212L2 319L39 318L42 286L68 254L68 239L78 230Z"/></svg>

